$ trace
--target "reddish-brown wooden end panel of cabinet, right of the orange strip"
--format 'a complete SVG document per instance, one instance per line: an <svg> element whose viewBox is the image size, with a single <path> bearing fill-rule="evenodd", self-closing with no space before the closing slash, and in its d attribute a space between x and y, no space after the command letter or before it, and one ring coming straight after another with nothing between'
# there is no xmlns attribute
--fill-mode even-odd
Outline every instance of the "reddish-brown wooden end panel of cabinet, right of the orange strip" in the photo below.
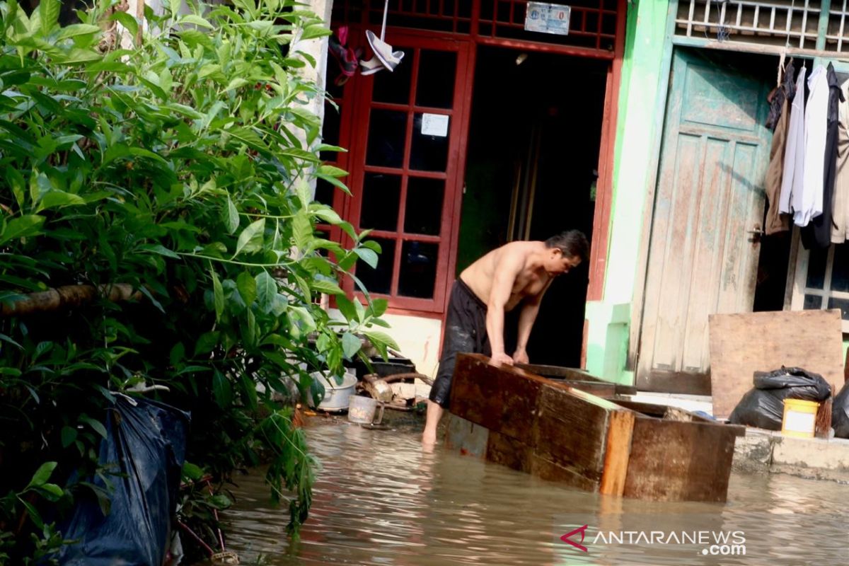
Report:
<svg viewBox="0 0 849 566"><path fill-rule="evenodd" d="M655 501L724 502L734 457L733 425L634 421L623 494Z"/></svg>

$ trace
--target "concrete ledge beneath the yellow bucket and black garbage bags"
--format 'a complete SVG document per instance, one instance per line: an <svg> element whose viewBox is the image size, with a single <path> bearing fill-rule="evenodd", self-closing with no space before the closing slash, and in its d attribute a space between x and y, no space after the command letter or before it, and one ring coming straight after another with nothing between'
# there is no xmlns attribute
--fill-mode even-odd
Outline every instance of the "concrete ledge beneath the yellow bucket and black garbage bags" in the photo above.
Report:
<svg viewBox="0 0 849 566"><path fill-rule="evenodd" d="M801 439L746 429L734 444L732 469L849 483L849 440Z"/></svg>

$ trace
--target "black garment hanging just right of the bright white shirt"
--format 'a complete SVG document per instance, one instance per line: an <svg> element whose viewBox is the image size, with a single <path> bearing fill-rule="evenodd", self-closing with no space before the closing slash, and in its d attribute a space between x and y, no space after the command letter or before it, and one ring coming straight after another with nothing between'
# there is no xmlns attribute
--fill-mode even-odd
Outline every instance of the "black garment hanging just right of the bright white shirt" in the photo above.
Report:
<svg viewBox="0 0 849 566"><path fill-rule="evenodd" d="M831 217L837 170L837 141L840 126L839 104L845 102L835 66L829 63L825 79L829 83L829 109L825 126L825 155L823 167L823 214L815 216L801 230L801 243L806 249L828 248L831 244Z"/></svg>

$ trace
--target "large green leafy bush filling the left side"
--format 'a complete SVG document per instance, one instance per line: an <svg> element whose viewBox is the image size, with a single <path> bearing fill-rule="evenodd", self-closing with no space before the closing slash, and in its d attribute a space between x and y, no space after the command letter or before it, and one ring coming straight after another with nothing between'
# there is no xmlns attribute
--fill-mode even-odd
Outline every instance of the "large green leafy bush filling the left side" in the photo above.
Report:
<svg viewBox="0 0 849 566"><path fill-rule="evenodd" d="M323 92L299 74L315 62L292 42L329 32L289 0L171 8L148 9L143 41L121 49L113 23L132 37L141 24L109 3L68 26L59 0L29 16L0 3L0 562L61 544L52 521L84 490L108 510L108 493L71 478L108 474L104 408L142 382L192 412L188 479L220 487L270 462L296 532L317 462L290 401L317 392L310 372L342 372L355 334L392 345L373 328L385 301L340 289L380 248L312 202L312 181L347 191L346 173L318 158L340 149L321 143L306 103ZM95 299L20 313L65 286ZM198 491L180 513L210 528L204 506L226 498Z"/></svg>

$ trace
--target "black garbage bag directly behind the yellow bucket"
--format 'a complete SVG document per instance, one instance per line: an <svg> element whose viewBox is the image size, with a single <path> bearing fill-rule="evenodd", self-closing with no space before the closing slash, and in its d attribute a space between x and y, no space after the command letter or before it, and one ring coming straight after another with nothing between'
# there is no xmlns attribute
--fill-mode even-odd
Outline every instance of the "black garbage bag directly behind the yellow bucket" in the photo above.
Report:
<svg viewBox="0 0 849 566"><path fill-rule="evenodd" d="M831 387L823 376L801 367L755 372L755 388L743 395L728 421L758 429L781 430L784 399L825 401Z"/></svg>

